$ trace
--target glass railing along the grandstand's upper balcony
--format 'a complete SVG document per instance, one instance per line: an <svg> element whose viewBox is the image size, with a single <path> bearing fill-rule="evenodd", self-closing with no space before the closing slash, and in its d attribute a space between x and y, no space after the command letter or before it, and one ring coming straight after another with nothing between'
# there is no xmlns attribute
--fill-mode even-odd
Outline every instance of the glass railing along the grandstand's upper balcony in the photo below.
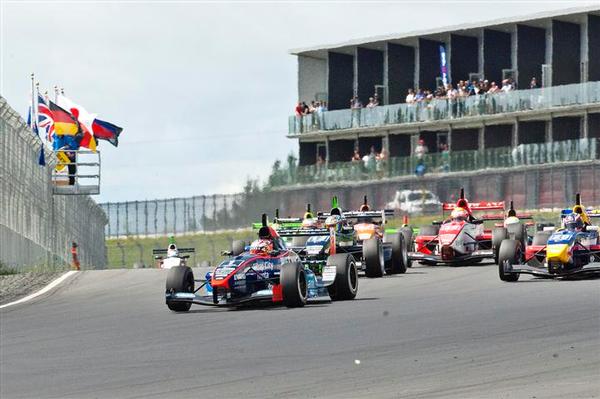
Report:
<svg viewBox="0 0 600 399"><path fill-rule="evenodd" d="M327 111L301 117L290 116L288 131L289 134L301 134L322 130L377 127L599 102L600 82L587 82L458 97L455 100L433 99L414 104L392 104L375 108Z"/></svg>

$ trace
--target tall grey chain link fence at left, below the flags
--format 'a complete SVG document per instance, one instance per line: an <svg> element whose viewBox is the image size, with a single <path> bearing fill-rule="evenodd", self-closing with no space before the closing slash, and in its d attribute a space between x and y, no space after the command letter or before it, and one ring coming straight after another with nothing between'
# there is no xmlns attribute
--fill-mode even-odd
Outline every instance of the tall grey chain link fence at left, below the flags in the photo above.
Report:
<svg viewBox="0 0 600 399"><path fill-rule="evenodd" d="M38 164L42 141L0 97L0 263L15 269L63 267L71 243L84 267L106 265L103 210L88 196L53 195L54 154Z"/></svg>

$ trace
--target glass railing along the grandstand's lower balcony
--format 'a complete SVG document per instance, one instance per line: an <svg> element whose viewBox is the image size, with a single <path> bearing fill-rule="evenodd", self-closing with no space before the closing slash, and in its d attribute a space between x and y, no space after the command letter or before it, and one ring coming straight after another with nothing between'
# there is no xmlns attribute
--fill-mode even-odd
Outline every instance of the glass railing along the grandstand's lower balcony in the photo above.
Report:
<svg viewBox="0 0 600 399"><path fill-rule="evenodd" d="M487 148L483 151L452 151L416 157L392 157L387 160L371 158L366 162L330 162L305 165L293 171L282 170L271 176L271 186L311 184L338 181L378 180L415 175L417 166L424 173L450 173L483 169L510 168L554 162L600 159L598 139L555 141L552 143L521 144L517 147Z"/></svg>

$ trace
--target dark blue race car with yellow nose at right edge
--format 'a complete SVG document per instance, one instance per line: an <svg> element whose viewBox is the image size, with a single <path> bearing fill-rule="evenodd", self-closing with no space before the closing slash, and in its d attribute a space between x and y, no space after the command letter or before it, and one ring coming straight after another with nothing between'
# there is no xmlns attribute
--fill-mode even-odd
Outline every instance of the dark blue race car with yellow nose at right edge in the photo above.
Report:
<svg viewBox="0 0 600 399"><path fill-rule="evenodd" d="M561 228L535 234L531 245L515 239L500 244L498 275L500 280L515 282L523 274L538 277L570 277L600 274L600 210L585 209L576 195L575 205L561 211Z"/></svg>

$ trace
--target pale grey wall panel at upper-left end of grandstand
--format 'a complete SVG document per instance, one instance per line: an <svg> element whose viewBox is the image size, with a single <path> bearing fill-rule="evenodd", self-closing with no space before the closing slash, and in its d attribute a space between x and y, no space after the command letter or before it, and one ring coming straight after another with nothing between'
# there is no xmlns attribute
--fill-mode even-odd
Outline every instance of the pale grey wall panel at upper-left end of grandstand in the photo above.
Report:
<svg viewBox="0 0 600 399"><path fill-rule="evenodd" d="M327 96L327 61L298 56L298 100L310 103Z"/></svg>

